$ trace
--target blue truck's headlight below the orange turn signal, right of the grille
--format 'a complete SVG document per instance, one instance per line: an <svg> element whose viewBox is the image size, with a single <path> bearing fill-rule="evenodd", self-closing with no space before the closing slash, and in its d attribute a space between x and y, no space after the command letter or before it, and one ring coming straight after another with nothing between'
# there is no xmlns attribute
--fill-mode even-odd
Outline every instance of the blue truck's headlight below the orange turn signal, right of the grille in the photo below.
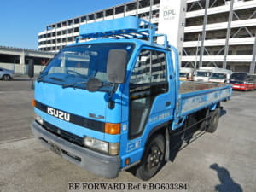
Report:
<svg viewBox="0 0 256 192"><path fill-rule="evenodd" d="M84 146L94 148L107 154L119 154L119 143L108 143L93 137L84 137Z"/></svg>

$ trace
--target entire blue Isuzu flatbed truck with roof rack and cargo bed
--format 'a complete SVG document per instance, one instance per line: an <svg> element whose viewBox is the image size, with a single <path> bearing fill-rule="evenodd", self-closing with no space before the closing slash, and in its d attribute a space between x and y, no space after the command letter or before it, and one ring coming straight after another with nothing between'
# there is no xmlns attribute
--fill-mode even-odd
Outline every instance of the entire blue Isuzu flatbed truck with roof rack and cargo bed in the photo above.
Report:
<svg viewBox="0 0 256 192"><path fill-rule="evenodd" d="M33 134L89 172L148 180L169 160L173 133L216 131L231 86L180 82L177 49L155 30L137 17L80 26L34 83Z"/></svg>

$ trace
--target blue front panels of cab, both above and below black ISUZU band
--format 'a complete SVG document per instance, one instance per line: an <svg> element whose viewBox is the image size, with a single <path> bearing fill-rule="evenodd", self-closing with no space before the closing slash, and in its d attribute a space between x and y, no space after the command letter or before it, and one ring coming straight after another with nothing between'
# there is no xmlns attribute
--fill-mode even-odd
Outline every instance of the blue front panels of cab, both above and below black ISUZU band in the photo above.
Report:
<svg viewBox="0 0 256 192"><path fill-rule="evenodd" d="M87 119L93 119L90 118L89 113L94 113L96 116L104 116L104 119L93 120L120 123L120 99L117 99L114 109L107 110L107 102L105 100L106 94L107 93L105 92L91 93L87 90L73 88L62 89L61 85L36 82L35 99L49 107L58 108L59 110L67 113L73 113ZM119 95L119 91L117 91L116 94ZM108 135L99 131L93 131L90 130L90 127L86 129L82 126L57 119L47 113L39 111L36 108L35 112L49 123L58 126L65 131L72 132L79 137L90 136L108 142L119 142L119 135Z"/></svg>

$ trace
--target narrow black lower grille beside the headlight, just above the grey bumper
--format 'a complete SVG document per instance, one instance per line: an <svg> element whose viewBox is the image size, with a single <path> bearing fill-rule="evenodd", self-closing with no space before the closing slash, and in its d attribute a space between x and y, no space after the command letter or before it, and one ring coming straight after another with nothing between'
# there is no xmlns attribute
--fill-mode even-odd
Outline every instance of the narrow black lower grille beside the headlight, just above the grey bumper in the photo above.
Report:
<svg viewBox="0 0 256 192"><path fill-rule="evenodd" d="M52 125L46 121L44 121L43 125L44 129L47 131L50 131L51 133L55 134L58 137L61 137L70 143L77 144L79 146L84 147L84 138L74 135L71 132L61 130L59 127L56 127L55 125Z"/></svg>

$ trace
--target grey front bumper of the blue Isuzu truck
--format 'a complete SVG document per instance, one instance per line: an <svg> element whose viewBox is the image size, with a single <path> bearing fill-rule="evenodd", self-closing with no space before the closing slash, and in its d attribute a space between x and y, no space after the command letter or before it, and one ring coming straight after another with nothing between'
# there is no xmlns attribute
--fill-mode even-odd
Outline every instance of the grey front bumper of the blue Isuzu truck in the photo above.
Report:
<svg viewBox="0 0 256 192"><path fill-rule="evenodd" d="M46 131L35 121L32 121L31 128L33 134L38 137L47 148L51 148L53 145L61 148L60 154L64 159L102 177L115 178L119 176L119 156L101 154L70 143Z"/></svg>

